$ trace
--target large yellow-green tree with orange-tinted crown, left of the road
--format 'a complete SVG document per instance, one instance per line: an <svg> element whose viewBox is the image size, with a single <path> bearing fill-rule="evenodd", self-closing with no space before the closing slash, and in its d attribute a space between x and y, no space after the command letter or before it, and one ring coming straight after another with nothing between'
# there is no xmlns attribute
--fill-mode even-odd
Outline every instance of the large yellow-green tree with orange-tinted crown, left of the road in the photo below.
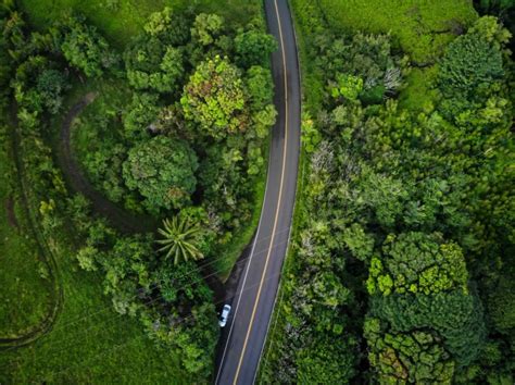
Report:
<svg viewBox="0 0 515 385"><path fill-rule="evenodd" d="M202 62L185 86L180 103L185 117L215 139L247 128L241 73L228 59Z"/></svg>

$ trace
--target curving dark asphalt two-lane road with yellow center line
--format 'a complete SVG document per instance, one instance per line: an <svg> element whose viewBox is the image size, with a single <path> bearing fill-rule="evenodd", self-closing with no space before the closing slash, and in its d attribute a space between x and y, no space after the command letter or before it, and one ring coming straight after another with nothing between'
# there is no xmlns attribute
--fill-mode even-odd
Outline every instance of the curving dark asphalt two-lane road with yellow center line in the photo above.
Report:
<svg viewBox="0 0 515 385"><path fill-rule="evenodd" d="M279 42L272 55L277 123L273 128L261 220L233 311L223 331L216 384L252 384L268 332L285 259L300 148L300 77L287 0L265 0L268 29Z"/></svg>

